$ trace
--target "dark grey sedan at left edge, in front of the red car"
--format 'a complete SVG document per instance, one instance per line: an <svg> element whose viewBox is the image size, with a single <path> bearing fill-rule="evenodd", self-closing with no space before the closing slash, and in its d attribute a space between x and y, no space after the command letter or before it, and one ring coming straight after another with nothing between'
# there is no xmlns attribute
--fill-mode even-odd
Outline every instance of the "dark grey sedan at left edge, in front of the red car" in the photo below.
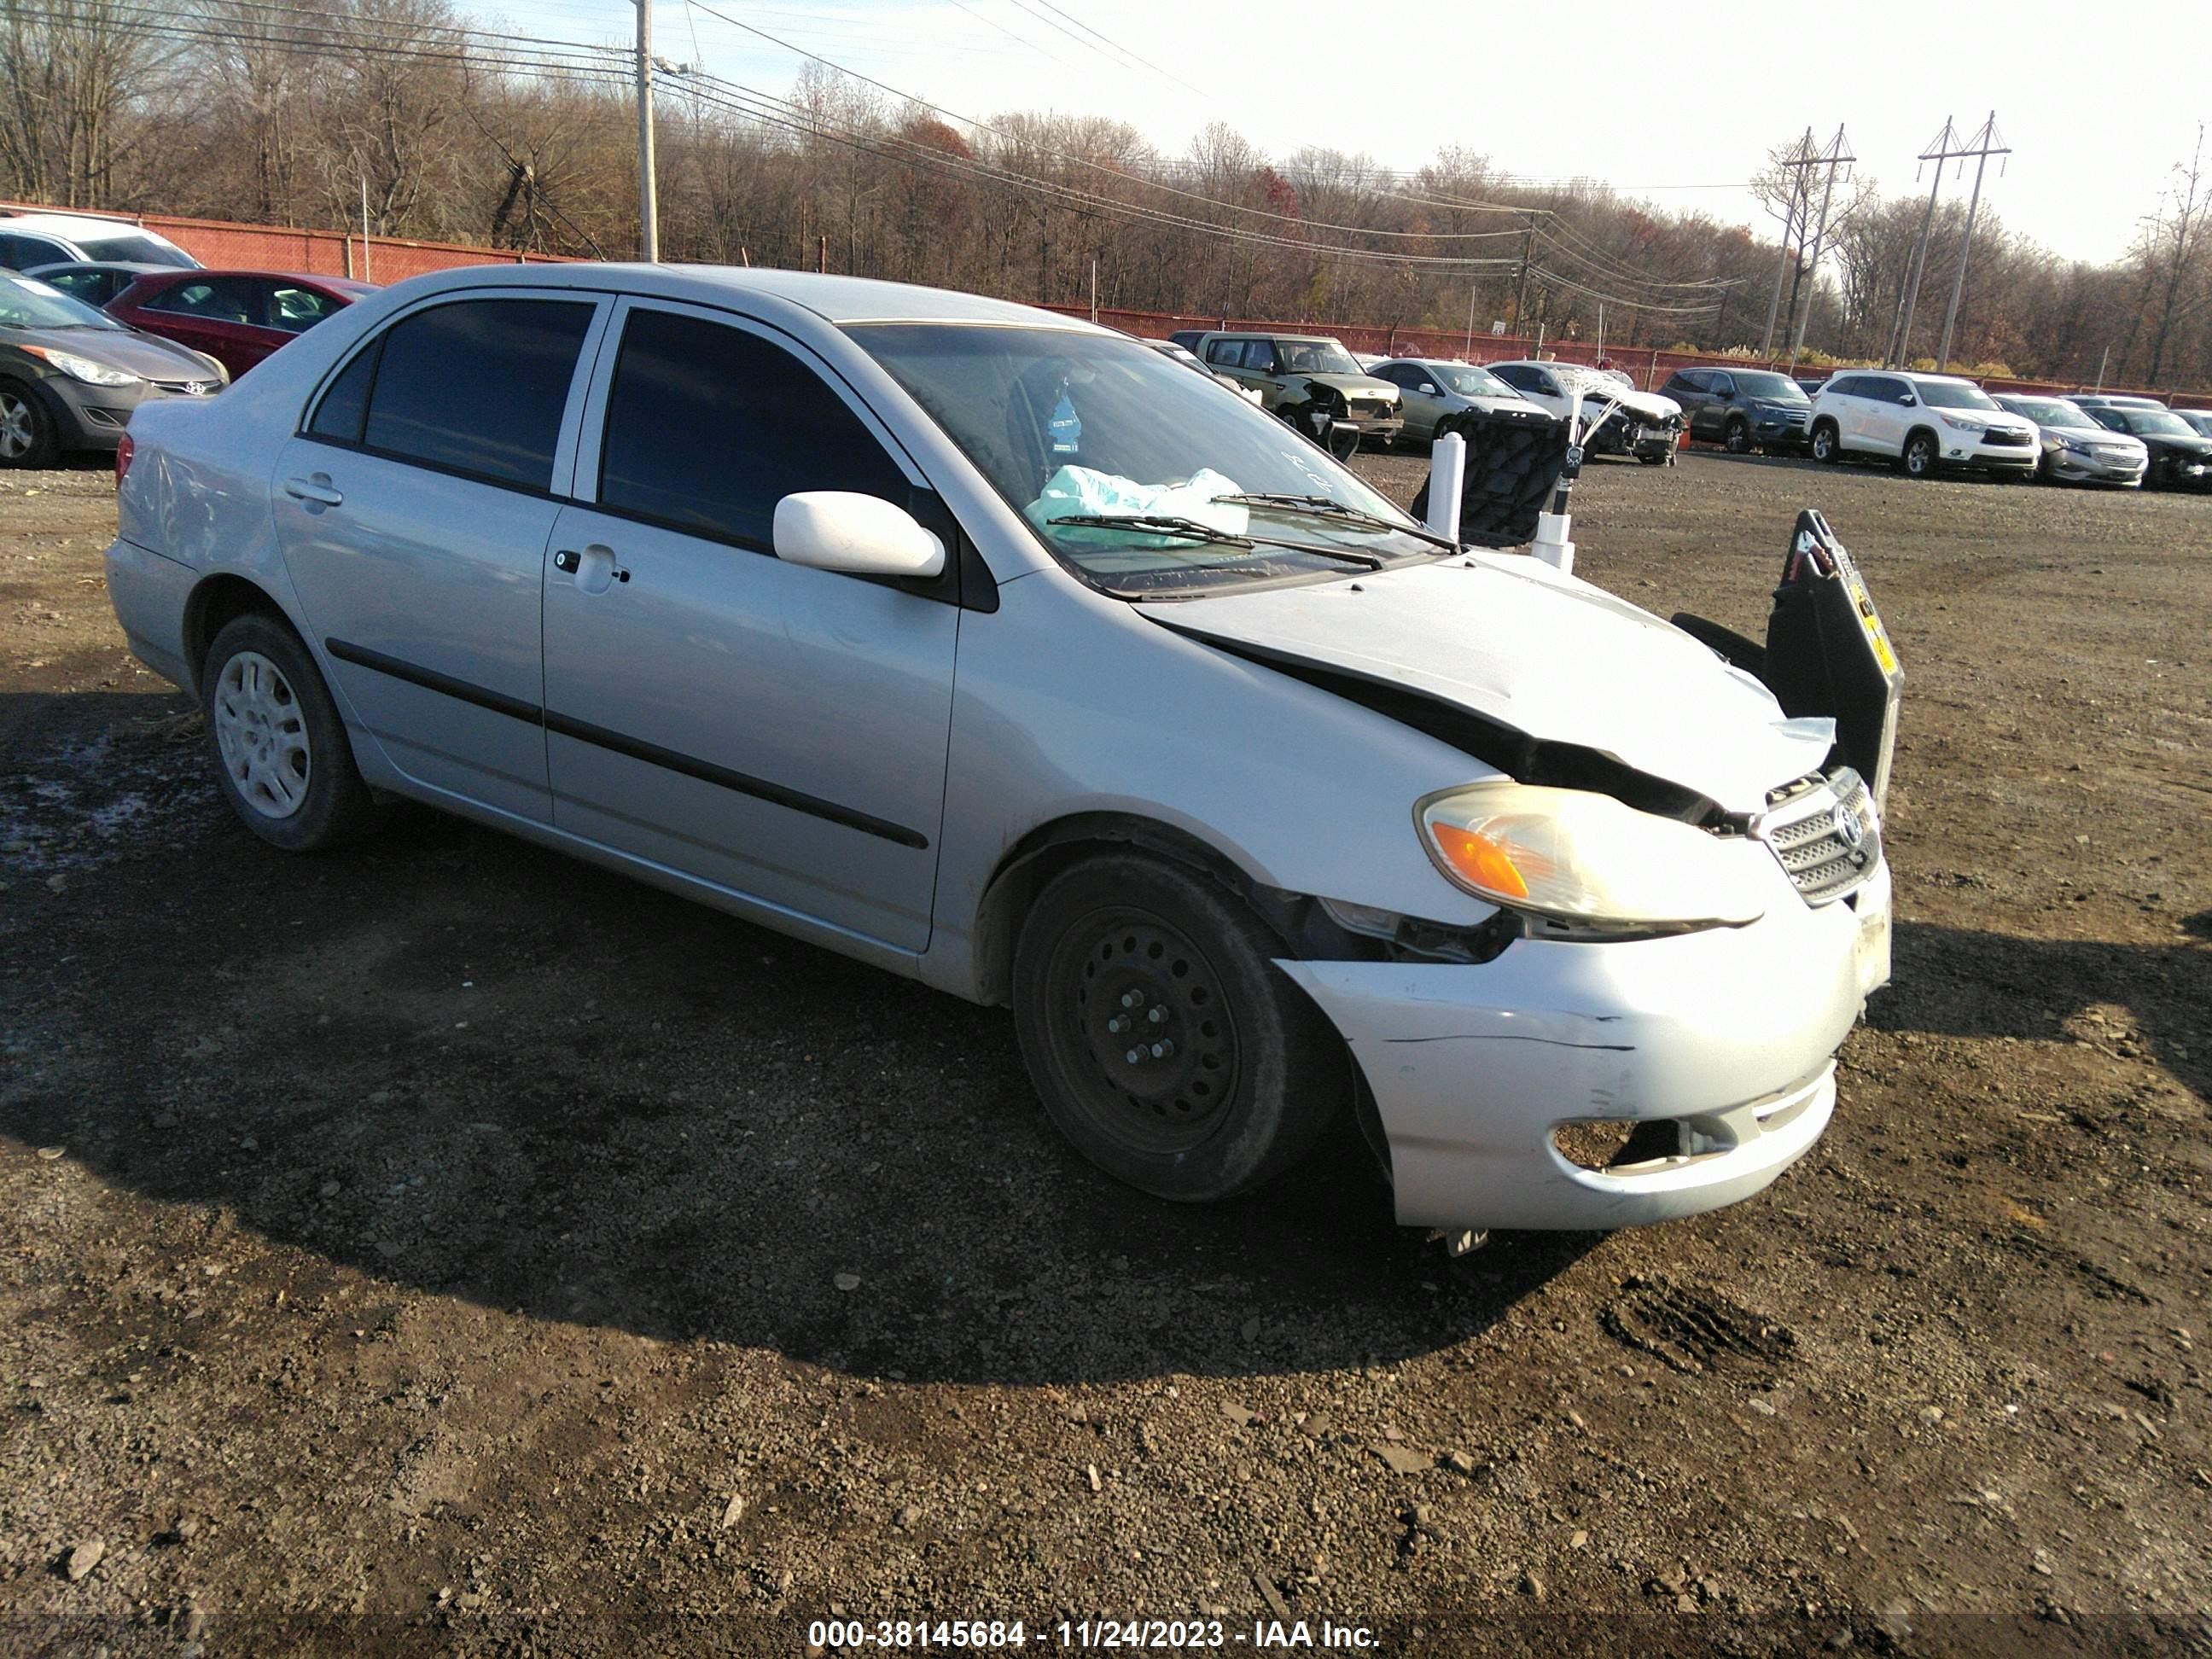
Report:
<svg viewBox="0 0 2212 1659"><path fill-rule="evenodd" d="M0 467L115 449L148 398L206 398L223 365L31 276L0 274Z"/></svg>

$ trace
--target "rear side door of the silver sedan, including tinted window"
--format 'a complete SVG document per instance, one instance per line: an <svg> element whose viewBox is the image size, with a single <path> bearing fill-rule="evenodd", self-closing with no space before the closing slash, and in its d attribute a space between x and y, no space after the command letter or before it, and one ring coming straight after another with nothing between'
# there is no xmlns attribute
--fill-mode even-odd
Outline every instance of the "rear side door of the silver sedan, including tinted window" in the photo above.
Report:
<svg viewBox="0 0 2212 1659"><path fill-rule="evenodd" d="M606 301L440 294L325 383L276 538L325 670L422 787L546 823L544 560Z"/></svg>

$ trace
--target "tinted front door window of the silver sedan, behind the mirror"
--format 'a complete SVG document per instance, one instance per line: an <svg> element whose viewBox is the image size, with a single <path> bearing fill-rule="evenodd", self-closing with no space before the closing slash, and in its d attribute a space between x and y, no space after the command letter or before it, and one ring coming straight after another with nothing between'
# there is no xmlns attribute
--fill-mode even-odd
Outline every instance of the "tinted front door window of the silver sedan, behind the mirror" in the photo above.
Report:
<svg viewBox="0 0 2212 1659"><path fill-rule="evenodd" d="M909 495L876 436L781 345L728 323L633 312L606 400L599 504L765 553L776 502L803 489L900 507Z"/></svg>

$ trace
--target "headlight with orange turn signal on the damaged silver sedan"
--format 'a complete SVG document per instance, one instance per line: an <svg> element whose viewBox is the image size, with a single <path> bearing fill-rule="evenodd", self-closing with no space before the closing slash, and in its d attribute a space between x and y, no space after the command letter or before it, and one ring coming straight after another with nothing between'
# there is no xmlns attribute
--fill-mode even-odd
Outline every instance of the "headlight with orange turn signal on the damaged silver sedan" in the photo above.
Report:
<svg viewBox="0 0 2212 1659"><path fill-rule="evenodd" d="M1413 807L1455 887L1586 927L1736 927L1765 914L1772 858L1606 794L1475 783Z"/></svg>

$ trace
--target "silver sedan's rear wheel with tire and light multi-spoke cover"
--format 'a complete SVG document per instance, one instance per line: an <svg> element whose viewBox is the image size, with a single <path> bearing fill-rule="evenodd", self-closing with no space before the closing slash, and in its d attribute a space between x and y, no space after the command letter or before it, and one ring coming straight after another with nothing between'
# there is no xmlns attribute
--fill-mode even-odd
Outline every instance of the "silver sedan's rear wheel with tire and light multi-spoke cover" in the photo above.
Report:
<svg viewBox="0 0 2212 1659"><path fill-rule="evenodd" d="M223 799L272 847L325 852L383 821L314 659L276 617L252 611L215 635L199 701Z"/></svg>

